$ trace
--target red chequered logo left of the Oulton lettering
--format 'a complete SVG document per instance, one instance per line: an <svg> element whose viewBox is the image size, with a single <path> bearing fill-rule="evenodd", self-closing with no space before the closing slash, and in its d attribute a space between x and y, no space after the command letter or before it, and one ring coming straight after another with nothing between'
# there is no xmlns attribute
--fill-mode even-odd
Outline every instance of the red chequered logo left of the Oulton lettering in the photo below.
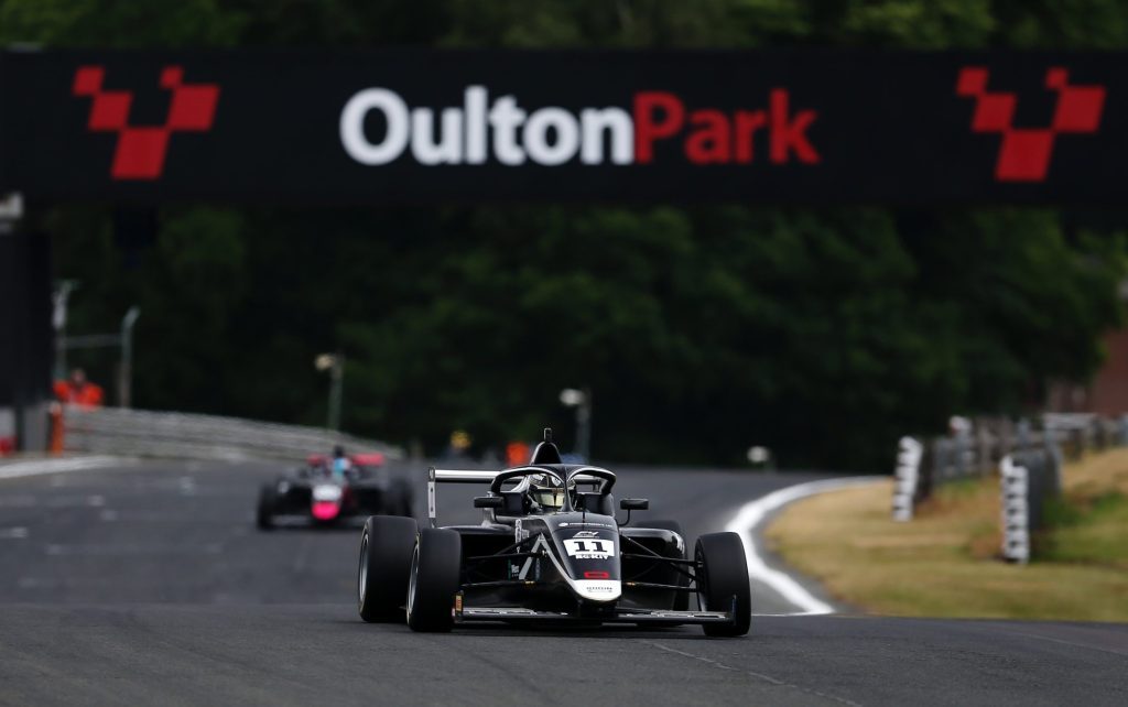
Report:
<svg viewBox="0 0 1128 707"><path fill-rule="evenodd" d="M168 117L164 125L135 126L129 124L132 91L112 91L102 88L106 70L103 67L80 67L74 72L76 96L89 96L92 132L117 133L114 164L109 174L114 179L156 179L165 170L168 138L174 132L208 132L215 118L219 86L215 83L184 83L184 69L165 67L160 86L173 91Z"/></svg>

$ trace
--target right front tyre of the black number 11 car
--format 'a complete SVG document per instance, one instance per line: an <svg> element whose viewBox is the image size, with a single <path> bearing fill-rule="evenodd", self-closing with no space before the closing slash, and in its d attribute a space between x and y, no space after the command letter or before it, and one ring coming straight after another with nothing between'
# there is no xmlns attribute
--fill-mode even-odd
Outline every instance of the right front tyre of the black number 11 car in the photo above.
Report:
<svg viewBox="0 0 1128 707"><path fill-rule="evenodd" d="M697 598L705 611L733 611L731 624L703 624L706 636L743 636L752 622L752 589L744 543L734 532L697 539Z"/></svg>

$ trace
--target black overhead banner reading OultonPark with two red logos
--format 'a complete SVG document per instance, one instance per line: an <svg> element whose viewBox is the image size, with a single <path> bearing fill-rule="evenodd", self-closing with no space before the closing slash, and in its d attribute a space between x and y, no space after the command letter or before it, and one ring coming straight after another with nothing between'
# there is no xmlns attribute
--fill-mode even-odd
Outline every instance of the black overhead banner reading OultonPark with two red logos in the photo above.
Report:
<svg viewBox="0 0 1128 707"><path fill-rule="evenodd" d="M0 54L29 198L1120 204L1126 161L1128 54Z"/></svg>

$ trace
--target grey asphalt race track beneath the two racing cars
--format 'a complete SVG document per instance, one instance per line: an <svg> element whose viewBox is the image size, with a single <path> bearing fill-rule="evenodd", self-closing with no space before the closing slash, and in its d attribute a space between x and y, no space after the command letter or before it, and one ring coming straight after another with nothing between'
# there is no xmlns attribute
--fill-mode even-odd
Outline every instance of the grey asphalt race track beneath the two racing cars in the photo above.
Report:
<svg viewBox="0 0 1128 707"><path fill-rule="evenodd" d="M367 625L356 531L254 529L271 476L160 462L0 479L0 704L1128 705L1121 625L764 616L739 639ZM617 491L691 541L811 478L632 469ZM473 494L441 488L440 519L473 520ZM758 587L754 610L786 604Z"/></svg>

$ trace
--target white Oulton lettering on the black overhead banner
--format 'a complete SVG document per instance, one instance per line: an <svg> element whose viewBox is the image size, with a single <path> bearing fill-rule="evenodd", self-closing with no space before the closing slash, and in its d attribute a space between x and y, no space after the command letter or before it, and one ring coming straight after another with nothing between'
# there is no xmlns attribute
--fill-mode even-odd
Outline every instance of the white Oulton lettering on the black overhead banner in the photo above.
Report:
<svg viewBox="0 0 1128 707"><path fill-rule="evenodd" d="M382 113L387 127L373 142L364 132L369 113ZM362 165L387 165L411 145L421 165L484 165L491 157L506 166L563 165L580 156L583 165L634 161L634 121L623 108L584 108L579 117L545 106L531 114L514 96L490 100L484 86L468 86L460 108L408 108L386 88L359 91L341 113L341 143ZM491 154L492 152L492 154Z"/></svg>

